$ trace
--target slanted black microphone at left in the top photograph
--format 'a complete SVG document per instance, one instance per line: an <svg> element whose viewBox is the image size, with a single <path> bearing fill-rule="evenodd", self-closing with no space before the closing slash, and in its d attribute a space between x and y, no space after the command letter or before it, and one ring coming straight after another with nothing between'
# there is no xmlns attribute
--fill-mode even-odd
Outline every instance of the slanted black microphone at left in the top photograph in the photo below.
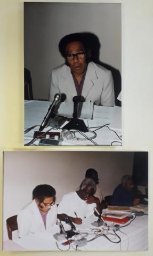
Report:
<svg viewBox="0 0 153 256"><path fill-rule="evenodd" d="M53 100L51 106L49 107L47 114L44 117L41 127L39 128L39 132L41 132L49 123L50 117L54 113L54 108L55 108L55 106L58 105L60 100L61 100L61 94L59 94L59 93L55 94L54 100Z"/></svg>

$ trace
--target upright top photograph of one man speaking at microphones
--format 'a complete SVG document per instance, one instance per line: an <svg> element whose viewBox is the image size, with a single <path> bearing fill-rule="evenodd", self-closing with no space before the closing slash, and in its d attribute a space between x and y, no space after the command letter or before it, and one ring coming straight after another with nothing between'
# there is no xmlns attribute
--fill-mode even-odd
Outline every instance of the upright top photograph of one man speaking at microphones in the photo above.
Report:
<svg viewBox="0 0 153 256"><path fill-rule="evenodd" d="M24 3L25 146L122 146L119 3Z"/></svg>

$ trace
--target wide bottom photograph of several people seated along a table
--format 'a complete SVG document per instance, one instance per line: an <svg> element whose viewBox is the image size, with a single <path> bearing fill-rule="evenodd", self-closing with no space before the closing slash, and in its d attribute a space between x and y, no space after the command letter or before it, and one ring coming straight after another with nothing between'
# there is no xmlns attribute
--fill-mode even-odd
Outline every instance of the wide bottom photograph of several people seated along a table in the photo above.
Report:
<svg viewBox="0 0 153 256"><path fill-rule="evenodd" d="M146 250L148 152L3 153L3 251Z"/></svg>

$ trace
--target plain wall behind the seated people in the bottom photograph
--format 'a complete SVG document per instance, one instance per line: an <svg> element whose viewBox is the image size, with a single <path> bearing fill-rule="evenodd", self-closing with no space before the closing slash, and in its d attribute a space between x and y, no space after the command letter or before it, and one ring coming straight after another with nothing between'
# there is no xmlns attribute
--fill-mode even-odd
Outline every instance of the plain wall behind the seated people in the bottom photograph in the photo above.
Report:
<svg viewBox="0 0 153 256"><path fill-rule="evenodd" d="M85 171L99 173L103 196L110 195L124 174L132 174L133 152L5 152L3 167L3 225L6 219L31 201L39 184L49 184L57 191L57 203L74 191L85 178Z"/></svg>

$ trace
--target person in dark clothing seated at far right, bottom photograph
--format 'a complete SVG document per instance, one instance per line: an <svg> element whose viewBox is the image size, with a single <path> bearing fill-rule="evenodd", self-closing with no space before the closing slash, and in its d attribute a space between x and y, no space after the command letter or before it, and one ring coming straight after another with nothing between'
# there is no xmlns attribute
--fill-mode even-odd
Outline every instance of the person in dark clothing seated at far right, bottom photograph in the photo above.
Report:
<svg viewBox="0 0 153 256"><path fill-rule="evenodd" d="M135 206L140 203L140 191L134 186L131 175L124 175L111 196L111 205Z"/></svg>

